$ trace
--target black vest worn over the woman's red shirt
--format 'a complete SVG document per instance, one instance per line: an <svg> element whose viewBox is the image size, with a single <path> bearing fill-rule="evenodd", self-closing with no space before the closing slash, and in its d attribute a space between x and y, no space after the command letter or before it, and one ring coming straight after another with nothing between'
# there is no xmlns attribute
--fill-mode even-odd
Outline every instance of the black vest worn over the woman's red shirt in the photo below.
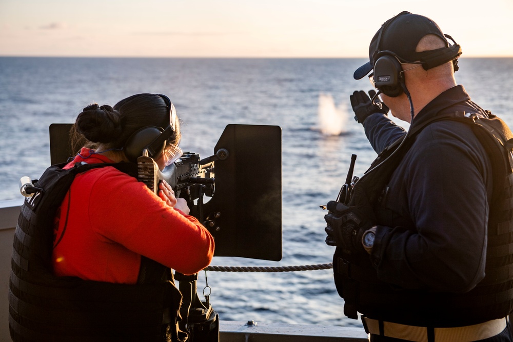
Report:
<svg viewBox="0 0 513 342"><path fill-rule="evenodd" d="M74 177L105 166L136 174L131 163L64 165L32 182L37 192L25 199L18 217L9 282L12 340L183 340L177 329L182 295L162 265L143 257L137 285L53 275L53 220Z"/></svg>

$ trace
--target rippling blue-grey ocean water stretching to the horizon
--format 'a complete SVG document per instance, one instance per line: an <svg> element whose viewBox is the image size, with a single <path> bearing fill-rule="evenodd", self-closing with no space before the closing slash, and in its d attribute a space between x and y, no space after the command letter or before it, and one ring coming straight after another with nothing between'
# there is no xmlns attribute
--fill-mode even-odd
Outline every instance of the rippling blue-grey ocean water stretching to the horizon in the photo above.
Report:
<svg viewBox="0 0 513 342"><path fill-rule="evenodd" d="M352 72L364 59L0 57L0 201L18 200L21 176L50 165L48 127L72 123L90 103L114 105L136 93L167 94L183 121L184 150L202 157L228 124L282 128L283 258L214 257L218 266L331 262L325 212L345 180L376 157L350 113L349 95L368 90ZM513 58L461 58L456 73L475 102L513 127ZM407 127L407 125L405 125ZM210 303L223 320L361 326L343 315L331 270L208 272ZM200 294L205 275L200 274ZM200 297L202 297L200 295Z"/></svg>

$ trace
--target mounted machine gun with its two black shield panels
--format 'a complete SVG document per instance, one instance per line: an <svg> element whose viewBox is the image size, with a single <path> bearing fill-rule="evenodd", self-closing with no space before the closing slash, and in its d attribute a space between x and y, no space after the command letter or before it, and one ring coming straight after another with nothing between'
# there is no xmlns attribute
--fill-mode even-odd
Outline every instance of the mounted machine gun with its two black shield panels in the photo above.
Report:
<svg viewBox="0 0 513 342"><path fill-rule="evenodd" d="M52 164L74 155L71 126L50 125ZM213 150L204 159L197 153L184 153L162 172L146 157L144 172L148 174L141 176L142 164L138 163L139 178L152 190L151 184L165 179L177 196L188 201L191 214L215 238L215 256L281 260L281 128L227 125ZM204 195L211 197L206 203Z"/></svg>

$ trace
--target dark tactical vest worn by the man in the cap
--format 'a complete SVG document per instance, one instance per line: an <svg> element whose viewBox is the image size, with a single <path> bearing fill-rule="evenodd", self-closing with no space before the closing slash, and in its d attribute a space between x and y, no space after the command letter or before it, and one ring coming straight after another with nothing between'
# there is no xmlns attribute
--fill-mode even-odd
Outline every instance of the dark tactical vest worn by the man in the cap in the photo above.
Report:
<svg viewBox="0 0 513 342"><path fill-rule="evenodd" d="M483 147L490 151L493 191L489 203L485 277L467 293L440 293L394 288L377 277L370 258L348 257L340 247L333 256L334 280L344 298L344 314L357 312L375 319L432 327L457 327L503 318L513 309L513 133L504 122L487 112L488 118L456 112L438 115L417 127L407 138L383 151L352 189L350 205L370 200L380 206L382 190L393 170L427 125L455 120L470 125ZM464 215L464 213L462 213ZM386 222L379 222L387 226Z"/></svg>

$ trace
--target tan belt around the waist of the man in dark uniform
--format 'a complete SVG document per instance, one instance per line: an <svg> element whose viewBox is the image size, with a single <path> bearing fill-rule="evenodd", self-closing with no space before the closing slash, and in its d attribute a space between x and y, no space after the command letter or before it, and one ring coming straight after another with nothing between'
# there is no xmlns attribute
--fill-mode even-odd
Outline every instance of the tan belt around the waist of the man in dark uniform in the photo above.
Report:
<svg viewBox="0 0 513 342"><path fill-rule="evenodd" d="M362 316L367 333L394 337L413 342L472 342L500 334L507 324L507 317L455 328L426 328L391 323ZM381 326L381 327L380 327Z"/></svg>

